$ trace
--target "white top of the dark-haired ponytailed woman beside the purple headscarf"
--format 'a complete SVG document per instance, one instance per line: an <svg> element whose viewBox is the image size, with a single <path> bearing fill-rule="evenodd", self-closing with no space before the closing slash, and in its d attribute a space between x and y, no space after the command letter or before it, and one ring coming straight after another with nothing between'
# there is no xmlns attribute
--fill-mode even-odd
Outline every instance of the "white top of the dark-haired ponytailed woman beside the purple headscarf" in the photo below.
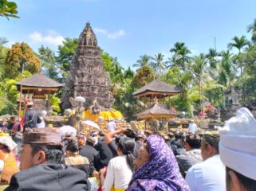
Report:
<svg viewBox="0 0 256 191"><path fill-rule="evenodd" d="M132 179L132 170L126 161L126 155L112 158L108 163L107 176L104 180L103 190L110 191L112 185L116 189L128 189Z"/></svg>

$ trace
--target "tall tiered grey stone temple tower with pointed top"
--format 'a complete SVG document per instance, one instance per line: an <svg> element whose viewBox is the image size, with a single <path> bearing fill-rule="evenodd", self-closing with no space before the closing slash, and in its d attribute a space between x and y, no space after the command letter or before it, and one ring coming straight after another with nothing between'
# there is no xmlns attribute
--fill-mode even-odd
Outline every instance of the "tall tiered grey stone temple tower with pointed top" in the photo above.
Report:
<svg viewBox="0 0 256 191"><path fill-rule="evenodd" d="M100 47L89 22L81 32L77 52L70 67L69 77L65 80L65 91L62 95L63 109L76 107L74 98L85 98L84 107L98 107L108 110L115 99L110 91L111 84L101 59Z"/></svg>

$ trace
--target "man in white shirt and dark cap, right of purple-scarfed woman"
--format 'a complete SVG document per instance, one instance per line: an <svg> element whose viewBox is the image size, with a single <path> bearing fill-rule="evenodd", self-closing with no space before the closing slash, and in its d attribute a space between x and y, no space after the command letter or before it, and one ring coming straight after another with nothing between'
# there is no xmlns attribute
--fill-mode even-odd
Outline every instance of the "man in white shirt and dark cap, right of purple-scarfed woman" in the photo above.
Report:
<svg viewBox="0 0 256 191"><path fill-rule="evenodd" d="M219 158L219 134L204 134L201 141L203 162L187 171L191 191L225 191L225 166Z"/></svg>

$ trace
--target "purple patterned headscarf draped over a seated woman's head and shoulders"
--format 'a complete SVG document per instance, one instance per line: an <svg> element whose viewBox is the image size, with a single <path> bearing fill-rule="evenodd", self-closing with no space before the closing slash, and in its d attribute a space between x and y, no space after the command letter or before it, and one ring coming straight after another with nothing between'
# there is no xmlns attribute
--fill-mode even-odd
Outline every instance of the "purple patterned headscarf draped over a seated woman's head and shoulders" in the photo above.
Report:
<svg viewBox="0 0 256 191"><path fill-rule="evenodd" d="M154 134L147 138L147 143L150 160L136 170L127 190L189 191L175 156L163 138Z"/></svg>

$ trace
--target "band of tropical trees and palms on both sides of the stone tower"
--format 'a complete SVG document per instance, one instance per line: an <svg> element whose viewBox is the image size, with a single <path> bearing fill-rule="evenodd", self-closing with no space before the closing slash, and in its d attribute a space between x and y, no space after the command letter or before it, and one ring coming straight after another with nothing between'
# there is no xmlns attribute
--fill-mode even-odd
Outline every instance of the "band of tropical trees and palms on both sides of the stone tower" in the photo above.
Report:
<svg viewBox="0 0 256 191"><path fill-rule="evenodd" d="M156 78L183 89L182 94L164 99L164 103L177 111L186 111L187 116L198 115L205 103L225 108L234 91L239 94L239 103L251 102L256 99L256 19L248 25L247 32L250 40L235 36L226 49L211 48L206 54L193 55L184 42L176 42L170 45L171 57L163 53L143 54L131 63L133 68L124 68L116 57L101 50L116 99L113 108L128 120L134 119L136 112L147 105L132 92ZM26 76L41 71L64 83L77 44L77 38L65 38L57 52L44 46L33 51L25 42L14 43L8 49L6 39L0 38L0 115L17 112L15 83L22 78L22 66ZM55 114L60 112L60 97L61 93L51 98Z"/></svg>

